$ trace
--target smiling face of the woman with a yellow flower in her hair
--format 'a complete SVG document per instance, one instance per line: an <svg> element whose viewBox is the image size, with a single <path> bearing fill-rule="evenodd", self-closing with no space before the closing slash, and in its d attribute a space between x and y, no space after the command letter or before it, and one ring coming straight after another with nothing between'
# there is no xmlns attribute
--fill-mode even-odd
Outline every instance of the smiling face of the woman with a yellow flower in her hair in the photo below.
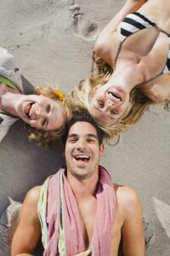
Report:
<svg viewBox="0 0 170 256"><path fill-rule="evenodd" d="M15 104L15 111L27 124L40 130L59 130L65 125L62 104L42 95L28 95Z"/></svg>

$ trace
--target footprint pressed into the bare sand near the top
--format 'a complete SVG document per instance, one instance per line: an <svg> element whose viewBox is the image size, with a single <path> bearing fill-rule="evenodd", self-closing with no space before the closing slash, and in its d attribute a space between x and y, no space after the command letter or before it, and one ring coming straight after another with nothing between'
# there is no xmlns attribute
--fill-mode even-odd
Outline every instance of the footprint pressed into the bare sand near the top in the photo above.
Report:
<svg viewBox="0 0 170 256"><path fill-rule="evenodd" d="M83 17L81 7L71 3L70 13L72 18L72 30L77 38L86 41L94 41L99 34L99 26L95 20L87 20Z"/></svg>

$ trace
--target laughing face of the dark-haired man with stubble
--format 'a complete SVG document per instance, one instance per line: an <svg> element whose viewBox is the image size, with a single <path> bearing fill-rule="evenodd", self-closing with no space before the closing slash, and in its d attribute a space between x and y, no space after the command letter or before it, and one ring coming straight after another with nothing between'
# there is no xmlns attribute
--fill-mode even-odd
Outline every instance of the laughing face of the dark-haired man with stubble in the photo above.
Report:
<svg viewBox="0 0 170 256"><path fill-rule="evenodd" d="M80 179L91 177L98 172L99 156L103 151L104 145L99 146L95 127L88 122L75 123L65 144L67 172Z"/></svg>

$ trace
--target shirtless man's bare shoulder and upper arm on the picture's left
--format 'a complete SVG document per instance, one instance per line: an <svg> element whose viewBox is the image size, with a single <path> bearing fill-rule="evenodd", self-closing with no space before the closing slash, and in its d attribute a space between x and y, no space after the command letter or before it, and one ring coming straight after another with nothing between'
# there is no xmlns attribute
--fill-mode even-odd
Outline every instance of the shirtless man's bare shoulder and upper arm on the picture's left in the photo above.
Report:
<svg viewBox="0 0 170 256"><path fill-rule="evenodd" d="M33 255L41 236L41 225L37 213L40 186L30 189L21 207L20 222L14 233L11 255ZM27 254L29 253L29 254Z"/></svg>

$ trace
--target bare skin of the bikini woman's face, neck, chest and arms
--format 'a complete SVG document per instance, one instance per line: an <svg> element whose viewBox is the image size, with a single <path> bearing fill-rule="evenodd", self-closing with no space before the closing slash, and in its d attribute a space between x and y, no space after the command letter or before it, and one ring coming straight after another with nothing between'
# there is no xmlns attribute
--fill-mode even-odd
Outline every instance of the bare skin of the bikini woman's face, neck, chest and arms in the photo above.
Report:
<svg viewBox="0 0 170 256"><path fill-rule="evenodd" d="M168 33L170 32L168 5L168 0L127 0L119 13L100 32L99 38L94 44L94 51L115 69L111 79L102 85L105 88L102 90L103 98L97 96L97 88L91 106L90 113L102 124L111 124L119 119L128 107L131 90L136 85L161 73L167 61L169 38L156 27L145 28L129 36L122 44L122 50L116 61L116 53L120 44L119 30L123 18L129 13L138 11ZM170 73L161 75L147 85L144 84L141 86L141 90L151 100L165 102L170 98ZM116 97L109 97L106 94L107 91L121 96L121 102L117 101ZM99 102L101 106L95 108L96 102ZM109 112L112 120L108 119L105 123ZM105 119L102 120L104 113Z"/></svg>

